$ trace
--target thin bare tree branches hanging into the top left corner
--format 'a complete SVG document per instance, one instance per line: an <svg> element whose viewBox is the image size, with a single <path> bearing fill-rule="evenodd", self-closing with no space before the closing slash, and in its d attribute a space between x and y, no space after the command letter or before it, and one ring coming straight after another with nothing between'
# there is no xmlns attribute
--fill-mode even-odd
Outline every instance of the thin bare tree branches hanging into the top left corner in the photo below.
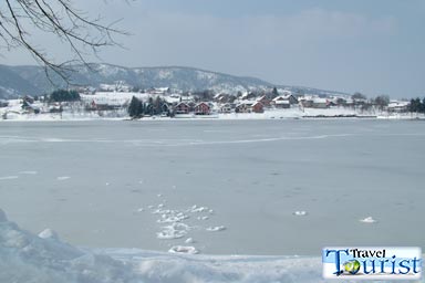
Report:
<svg viewBox="0 0 425 283"><path fill-rule="evenodd" d="M100 18L89 18L73 7L72 0L0 0L0 46L27 50L38 62L68 81L70 63L86 64L85 50L96 54L99 49L117 45L114 34L125 32L104 24ZM43 48L33 43L30 30L53 34L70 48L70 60L58 63ZM45 46L44 46L45 48Z"/></svg>

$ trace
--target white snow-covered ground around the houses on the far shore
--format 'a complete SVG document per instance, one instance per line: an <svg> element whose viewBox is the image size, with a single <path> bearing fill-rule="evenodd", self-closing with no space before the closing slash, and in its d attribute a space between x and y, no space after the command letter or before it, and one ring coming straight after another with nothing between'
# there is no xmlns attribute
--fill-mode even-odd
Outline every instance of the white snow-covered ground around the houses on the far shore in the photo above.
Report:
<svg viewBox="0 0 425 283"><path fill-rule="evenodd" d="M49 113L49 106L41 102L34 102L32 105L40 109L40 114L29 113L22 109L21 99L10 99L7 107L0 108L0 119L8 120L92 120L92 119L116 119L128 118L126 105L129 104L132 97L135 96L142 101L148 101L149 97L156 97L149 93L135 92L97 92L95 95L81 94L81 103L64 107L63 113ZM158 95L169 104L176 104L185 99L194 99L194 97L183 97L179 94ZM240 101L243 102L243 101ZM113 105L115 111L85 111L84 105ZM412 119L425 118L423 114L412 113L388 113L371 108L361 111L353 107L332 106L329 108L311 108L293 105L290 108L266 108L263 113L216 113L220 109L220 104L211 103L214 115L195 116L193 114L185 115L190 119L279 119L279 118L329 118L329 117L376 117L383 119ZM177 118L177 117L176 117ZM145 117L144 119L170 119L169 117Z"/></svg>

